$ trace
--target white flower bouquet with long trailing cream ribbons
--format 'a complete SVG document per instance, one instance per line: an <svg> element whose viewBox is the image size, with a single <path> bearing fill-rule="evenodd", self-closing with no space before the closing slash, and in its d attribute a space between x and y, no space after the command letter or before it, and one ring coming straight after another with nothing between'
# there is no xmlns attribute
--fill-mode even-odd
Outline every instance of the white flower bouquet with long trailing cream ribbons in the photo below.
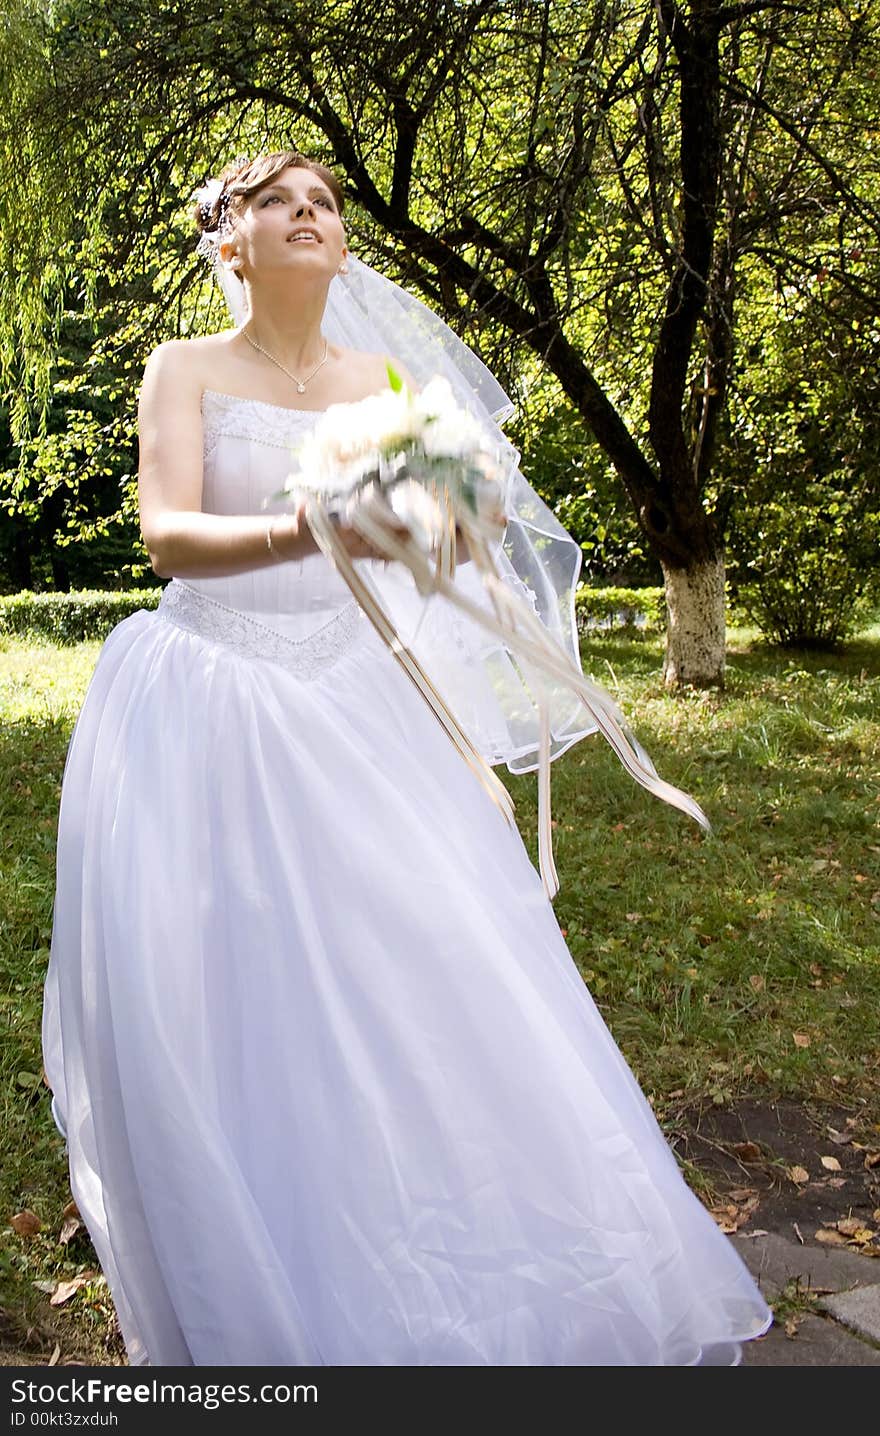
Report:
<svg viewBox="0 0 880 1436"><path fill-rule="evenodd" d="M393 656L458 747L508 821L511 797L469 741L415 655L402 643L379 595L342 543L336 521L360 533L386 560L403 563L419 592L442 593L469 619L501 638L528 672L540 714L538 866L548 898L558 892L550 817L550 717L544 675L583 702L630 775L657 797L686 811L702 827L695 800L665 783L626 729L610 694L584 678L571 656L541 623L528 602L504 582L492 553L505 527L504 451L468 412L448 382L431 379L418 393L388 366L389 388L356 404L329 408L297 451L297 468L280 495L303 505L319 549L346 580ZM455 582L458 540L464 538L482 589L484 607Z"/></svg>

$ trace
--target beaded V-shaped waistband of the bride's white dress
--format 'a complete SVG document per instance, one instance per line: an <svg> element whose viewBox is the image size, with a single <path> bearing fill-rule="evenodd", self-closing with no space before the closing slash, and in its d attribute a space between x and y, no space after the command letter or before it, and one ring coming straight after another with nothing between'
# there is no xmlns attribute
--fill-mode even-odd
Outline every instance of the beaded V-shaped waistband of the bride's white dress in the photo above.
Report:
<svg viewBox="0 0 880 1436"><path fill-rule="evenodd" d="M210 599L181 579L172 579L165 587L155 612L189 633L198 633L212 643L224 643L245 658L267 658L303 679L330 668L363 632L360 607L355 599L313 633L294 639L260 623L241 609Z"/></svg>

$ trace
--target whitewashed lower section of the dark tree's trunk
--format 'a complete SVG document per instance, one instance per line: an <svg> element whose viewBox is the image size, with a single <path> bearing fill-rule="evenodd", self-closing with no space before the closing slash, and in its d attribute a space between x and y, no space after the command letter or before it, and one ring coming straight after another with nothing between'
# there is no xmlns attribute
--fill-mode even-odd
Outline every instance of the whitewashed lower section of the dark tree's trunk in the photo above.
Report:
<svg viewBox="0 0 880 1436"><path fill-rule="evenodd" d="M724 688L725 569L724 559L705 559L688 569L663 564L666 586L668 688Z"/></svg>

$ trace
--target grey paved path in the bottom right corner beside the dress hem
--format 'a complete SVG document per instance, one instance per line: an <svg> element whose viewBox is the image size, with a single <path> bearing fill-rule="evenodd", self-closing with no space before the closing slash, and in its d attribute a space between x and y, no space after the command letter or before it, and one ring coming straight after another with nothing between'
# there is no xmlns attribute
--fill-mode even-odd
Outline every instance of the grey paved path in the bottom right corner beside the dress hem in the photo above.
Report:
<svg viewBox="0 0 880 1436"><path fill-rule="evenodd" d="M792 1282L817 1298L815 1314L797 1315L795 1335L774 1324L746 1341L744 1366L880 1366L880 1261L774 1232L731 1241L768 1301Z"/></svg>

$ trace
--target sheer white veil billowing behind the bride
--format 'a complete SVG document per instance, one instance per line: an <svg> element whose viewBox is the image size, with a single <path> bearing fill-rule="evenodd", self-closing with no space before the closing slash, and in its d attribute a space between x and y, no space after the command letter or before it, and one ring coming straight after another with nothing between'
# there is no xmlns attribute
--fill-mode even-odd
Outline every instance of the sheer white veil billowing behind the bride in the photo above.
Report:
<svg viewBox="0 0 880 1436"><path fill-rule="evenodd" d="M243 325L248 316L245 290L220 260L215 236L204 234L200 250L212 258L230 313ZM322 327L332 343L398 359L419 388L434 375L444 375L459 405L501 445L507 460L507 528L495 547L498 569L583 672L574 616L581 553L520 470L520 454L500 428L514 405L497 379L426 304L355 256L347 258L347 273L330 283ZM501 639L442 595L422 596L402 564L372 564L370 582L401 640L488 764L505 763L511 773L538 768L540 695L547 704L551 758L596 732L570 688L546 673L538 678ZM491 607L474 564L459 563L455 582L472 602Z"/></svg>

